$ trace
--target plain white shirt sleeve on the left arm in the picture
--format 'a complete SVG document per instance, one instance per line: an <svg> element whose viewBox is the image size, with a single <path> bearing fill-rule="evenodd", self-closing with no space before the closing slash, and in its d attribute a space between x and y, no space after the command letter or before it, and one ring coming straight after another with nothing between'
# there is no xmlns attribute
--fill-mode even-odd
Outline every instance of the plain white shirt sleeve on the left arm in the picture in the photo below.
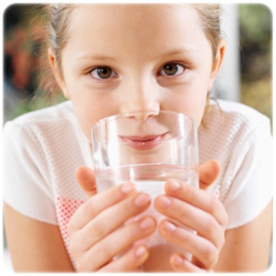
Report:
<svg viewBox="0 0 276 276"><path fill-rule="evenodd" d="M3 200L19 213L57 225L46 160L31 131L14 121L3 129Z"/></svg>

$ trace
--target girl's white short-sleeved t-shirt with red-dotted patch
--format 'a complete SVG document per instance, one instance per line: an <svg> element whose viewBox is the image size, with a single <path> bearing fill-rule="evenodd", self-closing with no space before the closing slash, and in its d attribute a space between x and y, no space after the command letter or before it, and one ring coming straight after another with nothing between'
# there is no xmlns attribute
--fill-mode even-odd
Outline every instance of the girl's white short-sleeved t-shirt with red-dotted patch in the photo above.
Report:
<svg viewBox="0 0 276 276"><path fill-rule="evenodd" d="M199 127L199 161L221 164L209 190L224 204L230 229L255 219L272 199L272 137L269 119L256 110L217 103ZM87 199L75 170L92 167L90 142L71 101L8 122L3 153L4 201L23 215L58 225L68 246L68 220Z"/></svg>

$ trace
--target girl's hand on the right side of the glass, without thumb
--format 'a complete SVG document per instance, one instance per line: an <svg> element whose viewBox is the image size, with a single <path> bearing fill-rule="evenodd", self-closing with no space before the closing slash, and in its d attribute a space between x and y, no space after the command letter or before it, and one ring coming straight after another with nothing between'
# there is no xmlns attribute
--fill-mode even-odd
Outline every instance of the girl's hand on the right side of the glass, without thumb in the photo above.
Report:
<svg viewBox="0 0 276 276"><path fill-rule="evenodd" d="M224 206L207 191L175 179L166 182L165 191L166 195L155 199L155 208L168 217L161 221L159 232L193 255L189 261L178 253L173 254L170 257L172 268L197 273L212 270L224 245L228 224ZM181 225L196 231L197 235Z"/></svg>

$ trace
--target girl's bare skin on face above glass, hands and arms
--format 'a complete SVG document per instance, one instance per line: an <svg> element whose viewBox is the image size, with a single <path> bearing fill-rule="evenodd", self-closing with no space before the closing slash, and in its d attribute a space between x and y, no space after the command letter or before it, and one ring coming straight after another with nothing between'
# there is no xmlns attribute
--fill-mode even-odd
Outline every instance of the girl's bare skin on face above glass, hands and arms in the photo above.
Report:
<svg viewBox="0 0 276 276"><path fill-rule="evenodd" d="M201 122L207 92L224 56L224 41L220 41L213 62L210 43L195 10L179 5L153 7L78 6L72 12L69 37L61 52L61 68L49 50L57 82L64 95L72 100L88 139L96 121L120 112L145 110L150 116L150 112L154 115L159 110L174 110L185 112L198 125ZM165 74L164 65L168 63L180 64L175 75ZM111 68L112 75L99 79L95 69L99 66ZM155 208L168 217L159 225L161 235L193 253L191 261L172 253L171 270L259 271L267 268L271 205L254 221L226 231L228 215L224 206L206 191L218 173L219 164L209 161L200 167L200 189L170 179L165 186L166 195L155 200ZM88 168L78 168L76 177L91 196L68 224L70 253L79 271L139 269L149 257L148 248L143 245L128 248L141 237L150 235L157 227L156 222L151 217L141 217L128 226L120 226L145 210L150 198L137 193L130 183L97 194L94 172ZM72 270L57 226L23 217L9 206L5 208L5 217L16 270ZM197 235L191 236L172 219L190 226ZM38 238L29 244L36 236L34 229ZM40 235L49 237L51 244L57 246L52 248L48 239L39 239ZM257 238L261 235L262 241ZM120 250L126 253L112 261ZM57 259L61 259L59 264Z"/></svg>

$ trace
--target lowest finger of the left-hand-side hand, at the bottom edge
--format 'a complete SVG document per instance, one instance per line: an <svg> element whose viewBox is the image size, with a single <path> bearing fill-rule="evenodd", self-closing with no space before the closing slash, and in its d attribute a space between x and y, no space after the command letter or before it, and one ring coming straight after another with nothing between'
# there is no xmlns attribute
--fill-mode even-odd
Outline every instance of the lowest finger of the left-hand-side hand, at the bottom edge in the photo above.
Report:
<svg viewBox="0 0 276 276"><path fill-rule="evenodd" d="M103 268L99 269L99 273L124 273L124 272L139 272L139 266L144 264L149 257L149 251L146 246L134 246L128 250L126 254L110 262Z"/></svg>

